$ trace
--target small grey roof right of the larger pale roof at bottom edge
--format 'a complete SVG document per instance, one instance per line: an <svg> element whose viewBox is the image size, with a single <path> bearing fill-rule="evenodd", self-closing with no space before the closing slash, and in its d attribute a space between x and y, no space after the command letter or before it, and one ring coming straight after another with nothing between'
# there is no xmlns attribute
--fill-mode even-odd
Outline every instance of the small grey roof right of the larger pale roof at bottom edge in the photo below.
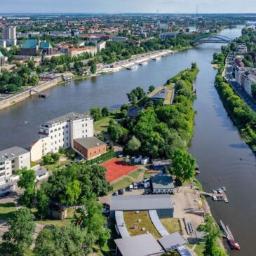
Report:
<svg viewBox="0 0 256 256"><path fill-rule="evenodd" d="M171 250L176 250L178 247L185 245L187 240L179 232L175 232L160 238L159 243L166 252L170 252Z"/></svg>

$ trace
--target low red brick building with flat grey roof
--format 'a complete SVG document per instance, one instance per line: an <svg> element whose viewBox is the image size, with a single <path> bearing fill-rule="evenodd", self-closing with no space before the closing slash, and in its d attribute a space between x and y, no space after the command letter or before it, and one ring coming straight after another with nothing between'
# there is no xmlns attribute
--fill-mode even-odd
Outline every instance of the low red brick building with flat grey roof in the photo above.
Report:
<svg viewBox="0 0 256 256"><path fill-rule="evenodd" d="M97 137L85 137L74 140L74 150L85 159L94 159L107 152L107 144Z"/></svg>

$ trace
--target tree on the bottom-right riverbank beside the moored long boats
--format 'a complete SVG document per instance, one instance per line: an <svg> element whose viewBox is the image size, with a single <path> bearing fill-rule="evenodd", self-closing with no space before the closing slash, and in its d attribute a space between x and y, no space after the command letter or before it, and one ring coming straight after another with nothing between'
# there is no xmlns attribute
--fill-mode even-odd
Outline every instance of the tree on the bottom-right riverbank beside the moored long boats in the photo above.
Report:
<svg viewBox="0 0 256 256"><path fill-rule="evenodd" d="M227 256L227 253L217 245L217 238L221 237L220 228L212 216L206 215L204 224L200 224L197 230L206 232L206 247L203 255Z"/></svg>

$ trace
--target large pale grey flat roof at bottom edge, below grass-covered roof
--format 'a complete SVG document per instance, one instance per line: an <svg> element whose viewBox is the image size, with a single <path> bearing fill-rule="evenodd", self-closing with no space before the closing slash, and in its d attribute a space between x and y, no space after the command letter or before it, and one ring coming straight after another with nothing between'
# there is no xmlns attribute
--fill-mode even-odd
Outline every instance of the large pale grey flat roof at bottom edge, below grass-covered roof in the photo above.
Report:
<svg viewBox="0 0 256 256"><path fill-rule="evenodd" d="M149 256L164 253L161 245L150 233L116 239L114 242L123 256Z"/></svg>

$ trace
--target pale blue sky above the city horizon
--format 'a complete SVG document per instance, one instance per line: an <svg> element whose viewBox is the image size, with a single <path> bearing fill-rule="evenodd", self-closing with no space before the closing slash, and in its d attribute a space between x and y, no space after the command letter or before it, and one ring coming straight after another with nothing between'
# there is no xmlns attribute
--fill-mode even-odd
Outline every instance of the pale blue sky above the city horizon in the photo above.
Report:
<svg viewBox="0 0 256 256"><path fill-rule="evenodd" d="M0 0L0 13L255 13L256 0Z"/></svg>

